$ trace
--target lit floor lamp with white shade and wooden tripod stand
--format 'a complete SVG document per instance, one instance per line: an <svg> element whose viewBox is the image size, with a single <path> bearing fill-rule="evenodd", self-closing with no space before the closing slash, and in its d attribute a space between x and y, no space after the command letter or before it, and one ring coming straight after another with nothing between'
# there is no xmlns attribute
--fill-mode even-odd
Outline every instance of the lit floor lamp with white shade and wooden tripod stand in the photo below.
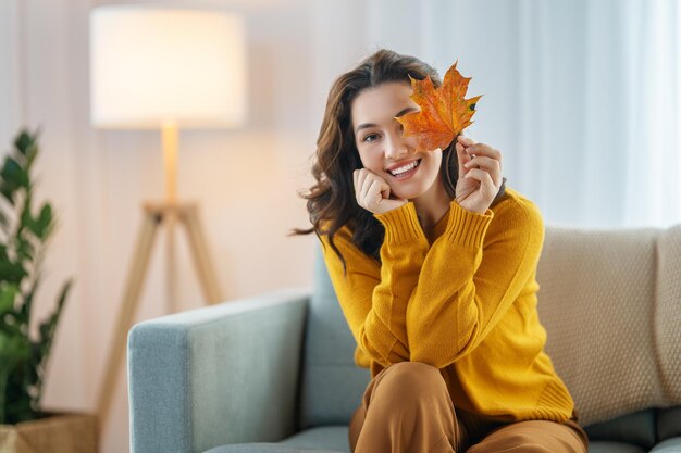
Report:
<svg viewBox="0 0 681 453"><path fill-rule="evenodd" d="M108 129L160 129L165 172L165 200L143 203L143 226L99 394L102 426L160 227L169 238L171 299L176 280L172 230L181 224L188 234L207 301L220 301L198 206L177 200L177 138L179 128L230 128L245 121L244 48L243 21L226 12L110 4L90 13L91 124Z"/></svg>

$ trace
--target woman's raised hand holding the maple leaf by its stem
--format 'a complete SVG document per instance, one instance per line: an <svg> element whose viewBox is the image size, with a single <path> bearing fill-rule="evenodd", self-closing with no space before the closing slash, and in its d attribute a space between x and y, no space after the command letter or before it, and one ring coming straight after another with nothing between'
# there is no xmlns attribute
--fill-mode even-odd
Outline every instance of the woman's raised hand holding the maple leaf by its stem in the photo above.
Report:
<svg viewBox="0 0 681 453"><path fill-rule="evenodd" d="M484 214L502 187L502 153L459 135L456 143L459 179L456 201L468 211Z"/></svg>

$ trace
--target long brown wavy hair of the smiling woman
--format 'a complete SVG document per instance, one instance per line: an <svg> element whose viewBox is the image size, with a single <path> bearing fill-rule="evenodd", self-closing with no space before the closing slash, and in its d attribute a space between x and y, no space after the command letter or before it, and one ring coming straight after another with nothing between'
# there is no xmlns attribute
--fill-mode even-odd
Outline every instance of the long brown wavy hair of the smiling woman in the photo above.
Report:
<svg viewBox="0 0 681 453"><path fill-rule="evenodd" d="M334 243L334 235L347 225L352 231L352 242L363 253L381 262L381 244L384 228L373 214L357 204L352 172L362 168L355 144L350 109L352 101L364 89L388 81L401 81L409 86L409 76L423 80L431 77L439 87L442 79L432 66L409 55L391 50L379 50L363 60L356 68L340 75L331 87L324 118L317 139L312 176L317 183L300 196L307 200L311 228L294 229L292 235L329 235L329 242L346 267L345 259ZM459 168L454 140L443 152L441 177L447 194L454 199ZM504 184L495 202L504 193Z"/></svg>

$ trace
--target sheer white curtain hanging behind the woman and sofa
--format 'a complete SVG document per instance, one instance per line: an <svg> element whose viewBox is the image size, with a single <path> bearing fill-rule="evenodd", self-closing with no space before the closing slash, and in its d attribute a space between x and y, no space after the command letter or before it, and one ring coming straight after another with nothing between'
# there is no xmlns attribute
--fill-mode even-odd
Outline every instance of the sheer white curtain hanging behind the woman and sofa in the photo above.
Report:
<svg viewBox="0 0 681 453"><path fill-rule="evenodd" d="M470 135L504 152L508 184L546 223L681 223L677 0L323 3L317 77L379 47L441 73L458 59L484 95Z"/></svg>

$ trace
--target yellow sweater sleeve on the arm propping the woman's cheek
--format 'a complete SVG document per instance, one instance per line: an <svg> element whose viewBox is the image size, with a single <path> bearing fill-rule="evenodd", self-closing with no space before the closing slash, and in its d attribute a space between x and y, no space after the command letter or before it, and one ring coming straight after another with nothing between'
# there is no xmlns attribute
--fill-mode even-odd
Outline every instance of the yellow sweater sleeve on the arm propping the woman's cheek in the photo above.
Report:
<svg viewBox="0 0 681 453"><path fill-rule="evenodd" d="M327 236L322 235L321 239L331 281L358 348L387 367L409 361L407 303L417 286L429 243L413 203L375 218L385 227L382 264L360 251L349 228L343 227L334 236L334 243L346 262L347 274L344 274L343 263Z"/></svg>

